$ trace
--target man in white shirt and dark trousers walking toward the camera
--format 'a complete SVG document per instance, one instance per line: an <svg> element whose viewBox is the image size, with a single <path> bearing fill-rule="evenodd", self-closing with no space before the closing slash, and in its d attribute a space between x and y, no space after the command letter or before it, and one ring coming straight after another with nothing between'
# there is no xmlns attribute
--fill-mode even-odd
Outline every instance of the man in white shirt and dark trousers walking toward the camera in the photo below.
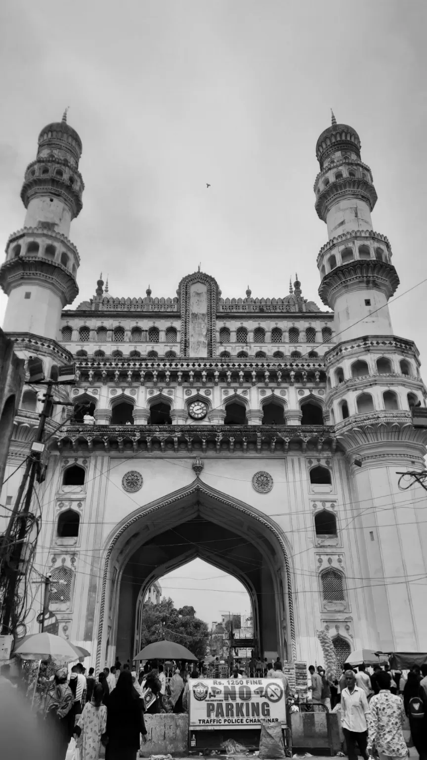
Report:
<svg viewBox="0 0 427 760"><path fill-rule="evenodd" d="M369 715L368 699L365 691L356 686L354 670L346 670L346 686L341 692L341 726L346 739L349 760L357 760L356 743L364 760L368 760L366 746L368 743Z"/></svg>

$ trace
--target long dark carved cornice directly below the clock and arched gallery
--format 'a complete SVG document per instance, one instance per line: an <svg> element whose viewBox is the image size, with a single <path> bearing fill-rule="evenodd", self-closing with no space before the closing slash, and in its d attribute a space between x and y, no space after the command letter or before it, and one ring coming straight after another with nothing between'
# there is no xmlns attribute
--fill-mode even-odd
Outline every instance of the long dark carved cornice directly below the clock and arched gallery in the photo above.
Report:
<svg viewBox="0 0 427 760"><path fill-rule="evenodd" d="M336 448L331 426L286 425L68 425L55 435L60 450L134 451L134 454L206 455L262 454L287 451L327 451Z"/></svg>

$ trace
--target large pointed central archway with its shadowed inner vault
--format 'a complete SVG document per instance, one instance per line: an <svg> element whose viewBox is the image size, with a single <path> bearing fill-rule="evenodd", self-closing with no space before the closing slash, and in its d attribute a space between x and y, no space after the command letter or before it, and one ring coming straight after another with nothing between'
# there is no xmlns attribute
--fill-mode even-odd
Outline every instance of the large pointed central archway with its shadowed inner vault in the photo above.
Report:
<svg viewBox="0 0 427 760"><path fill-rule="evenodd" d="M138 595L195 557L229 572L245 586L259 651L296 658L289 552L280 528L260 511L196 479L134 511L110 535L97 669L108 645L122 661L132 659Z"/></svg>

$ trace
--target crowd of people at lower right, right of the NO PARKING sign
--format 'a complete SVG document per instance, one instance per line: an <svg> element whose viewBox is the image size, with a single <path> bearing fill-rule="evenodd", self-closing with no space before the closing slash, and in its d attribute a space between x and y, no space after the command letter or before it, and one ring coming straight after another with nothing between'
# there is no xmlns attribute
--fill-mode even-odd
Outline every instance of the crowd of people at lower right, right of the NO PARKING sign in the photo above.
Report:
<svg viewBox="0 0 427 760"><path fill-rule="evenodd" d="M378 752L379 760L406 758L406 722L420 760L427 760L427 665L414 665L407 675L380 664L368 673L364 664L343 665L340 679L328 680L324 668L309 667L312 709L340 711L349 760ZM320 707L323 705L323 707Z"/></svg>

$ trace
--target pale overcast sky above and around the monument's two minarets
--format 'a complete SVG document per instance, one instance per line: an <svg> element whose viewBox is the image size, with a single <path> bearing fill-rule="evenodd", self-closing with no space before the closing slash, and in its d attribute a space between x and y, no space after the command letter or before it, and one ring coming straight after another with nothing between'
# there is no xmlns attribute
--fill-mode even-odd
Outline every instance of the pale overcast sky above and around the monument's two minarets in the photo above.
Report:
<svg viewBox="0 0 427 760"><path fill-rule="evenodd" d="M71 225L74 306L100 271L113 296L144 296L150 283L153 296L172 297L199 262L224 297L244 297L248 284L254 297L285 296L298 271L320 305L327 228L314 208L315 144L332 106L372 168L373 225L391 241L400 295L427 276L426 9L4 0L0 238L23 226L19 193L40 129L70 106L86 185ZM416 340L422 359L426 297L424 283L391 301L395 334Z"/></svg>

